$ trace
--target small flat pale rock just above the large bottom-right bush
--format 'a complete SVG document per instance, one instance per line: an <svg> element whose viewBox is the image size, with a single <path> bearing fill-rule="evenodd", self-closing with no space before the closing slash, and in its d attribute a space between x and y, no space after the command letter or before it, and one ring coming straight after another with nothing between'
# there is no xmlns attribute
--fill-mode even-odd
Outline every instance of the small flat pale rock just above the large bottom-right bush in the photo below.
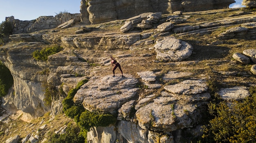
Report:
<svg viewBox="0 0 256 143"><path fill-rule="evenodd" d="M243 86L236 86L233 88L222 88L219 91L220 97L227 101L240 101L250 95L248 89Z"/></svg>

